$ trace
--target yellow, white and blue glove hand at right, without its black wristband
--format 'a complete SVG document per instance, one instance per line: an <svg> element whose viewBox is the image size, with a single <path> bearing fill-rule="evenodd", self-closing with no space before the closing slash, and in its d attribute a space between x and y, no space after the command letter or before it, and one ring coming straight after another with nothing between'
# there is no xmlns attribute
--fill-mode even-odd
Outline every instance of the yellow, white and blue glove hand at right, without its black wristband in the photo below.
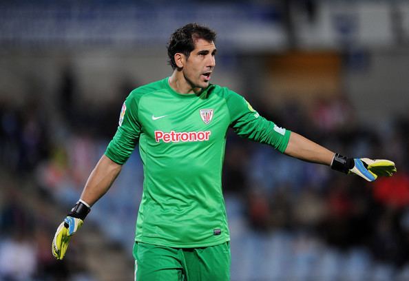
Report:
<svg viewBox="0 0 409 281"><path fill-rule="evenodd" d="M392 176L396 172L395 163L390 160L355 158L354 167L348 174L357 174L368 181L374 181L378 176Z"/></svg>

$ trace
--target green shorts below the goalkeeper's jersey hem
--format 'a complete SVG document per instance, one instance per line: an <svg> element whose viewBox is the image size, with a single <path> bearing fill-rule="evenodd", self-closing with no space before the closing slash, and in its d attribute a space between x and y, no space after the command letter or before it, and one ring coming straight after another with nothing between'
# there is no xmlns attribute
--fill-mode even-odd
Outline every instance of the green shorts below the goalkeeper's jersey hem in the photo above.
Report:
<svg viewBox="0 0 409 281"><path fill-rule="evenodd" d="M138 281L230 280L230 242L202 248L135 242L134 258Z"/></svg>

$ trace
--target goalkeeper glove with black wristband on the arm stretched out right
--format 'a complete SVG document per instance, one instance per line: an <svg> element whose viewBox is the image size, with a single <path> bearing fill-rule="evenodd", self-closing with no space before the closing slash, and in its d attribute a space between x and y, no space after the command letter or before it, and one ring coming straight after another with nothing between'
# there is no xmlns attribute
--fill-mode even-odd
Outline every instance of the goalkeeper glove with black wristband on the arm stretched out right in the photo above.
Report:
<svg viewBox="0 0 409 281"><path fill-rule="evenodd" d="M368 181L374 181L378 176L392 176L396 171L395 163L384 159L346 158L335 154L331 168L345 174L357 174Z"/></svg>

